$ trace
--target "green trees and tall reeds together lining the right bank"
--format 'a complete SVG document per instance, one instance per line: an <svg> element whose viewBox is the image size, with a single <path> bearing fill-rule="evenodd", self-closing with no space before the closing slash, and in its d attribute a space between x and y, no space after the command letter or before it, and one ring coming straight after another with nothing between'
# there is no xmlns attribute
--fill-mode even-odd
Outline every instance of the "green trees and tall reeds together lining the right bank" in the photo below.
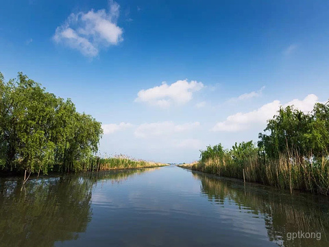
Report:
<svg viewBox="0 0 329 247"><path fill-rule="evenodd" d="M329 106L317 103L311 113L287 106L267 122L258 145L221 144L200 150L192 169L282 189L329 194Z"/></svg>

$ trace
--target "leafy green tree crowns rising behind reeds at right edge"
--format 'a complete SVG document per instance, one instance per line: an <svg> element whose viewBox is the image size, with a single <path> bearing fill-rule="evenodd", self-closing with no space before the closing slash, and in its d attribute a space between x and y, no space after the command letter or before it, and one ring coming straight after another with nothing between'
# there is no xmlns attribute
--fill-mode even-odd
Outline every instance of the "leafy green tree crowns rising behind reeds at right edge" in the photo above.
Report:
<svg viewBox="0 0 329 247"><path fill-rule="evenodd" d="M329 150L329 106L317 103L312 113L303 113L293 106L280 108L259 134L258 146L270 158L295 152L305 158L321 158Z"/></svg>

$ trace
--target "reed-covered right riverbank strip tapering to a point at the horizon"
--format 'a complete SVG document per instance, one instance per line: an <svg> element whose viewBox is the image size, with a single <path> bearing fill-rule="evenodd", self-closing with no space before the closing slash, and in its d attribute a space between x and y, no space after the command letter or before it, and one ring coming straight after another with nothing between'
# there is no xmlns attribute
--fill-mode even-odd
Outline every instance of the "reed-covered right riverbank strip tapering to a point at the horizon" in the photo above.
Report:
<svg viewBox="0 0 329 247"><path fill-rule="evenodd" d="M329 175L326 164L311 166L305 161L291 162L291 159L284 156L278 160L266 161L266 163L254 157L249 161L246 160L242 165L223 159L221 162L211 160L207 163L195 162L177 166L215 176L269 185L289 190L291 193L308 191L326 196L329 194Z"/></svg>

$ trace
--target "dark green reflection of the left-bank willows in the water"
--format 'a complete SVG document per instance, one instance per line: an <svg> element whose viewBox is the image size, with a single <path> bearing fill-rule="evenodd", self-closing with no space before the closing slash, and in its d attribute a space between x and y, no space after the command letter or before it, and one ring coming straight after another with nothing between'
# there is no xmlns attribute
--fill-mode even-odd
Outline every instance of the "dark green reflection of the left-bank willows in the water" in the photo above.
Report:
<svg viewBox="0 0 329 247"><path fill-rule="evenodd" d="M91 220L97 180L120 183L142 169L21 181L0 180L0 246L53 246L77 239Z"/></svg>

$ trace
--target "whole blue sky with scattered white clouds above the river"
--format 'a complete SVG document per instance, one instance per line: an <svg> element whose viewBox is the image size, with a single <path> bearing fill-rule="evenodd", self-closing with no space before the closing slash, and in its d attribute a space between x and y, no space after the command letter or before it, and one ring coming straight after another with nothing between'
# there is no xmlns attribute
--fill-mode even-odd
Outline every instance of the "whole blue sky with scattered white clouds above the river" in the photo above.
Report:
<svg viewBox="0 0 329 247"><path fill-rule="evenodd" d="M0 71L104 128L101 154L191 162L329 98L329 1L3 0Z"/></svg>

